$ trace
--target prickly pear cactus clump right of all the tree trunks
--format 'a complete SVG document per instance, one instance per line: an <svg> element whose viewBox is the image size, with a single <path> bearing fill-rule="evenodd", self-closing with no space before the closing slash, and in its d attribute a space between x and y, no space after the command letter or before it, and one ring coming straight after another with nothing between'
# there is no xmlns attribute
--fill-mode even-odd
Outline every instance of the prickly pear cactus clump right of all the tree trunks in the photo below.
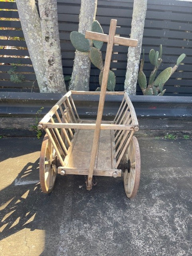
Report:
<svg viewBox="0 0 192 256"><path fill-rule="evenodd" d="M172 76L172 74L177 70L178 66L184 60L185 57L186 55L184 53L181 54L178 57L177 62L173 68L169 67L164 69L156 77L157 70L162 62L162 44L160 44L159 52L158 51L155 52L154 49L151 49L149 52L149 61L152 65L154 65L154 69L150 74L148 85L147 85L146 76L143 72L143 66L144 66L144 49L143 49L143 58L141 59L141 64L140 64L139 74L138 74L138 83L139 83L139 86L141 87L143 95L157 95L157 96L161 95L162 96L166 92L166 89L163 90L164 84L170 78L170 76Z"/></svg>

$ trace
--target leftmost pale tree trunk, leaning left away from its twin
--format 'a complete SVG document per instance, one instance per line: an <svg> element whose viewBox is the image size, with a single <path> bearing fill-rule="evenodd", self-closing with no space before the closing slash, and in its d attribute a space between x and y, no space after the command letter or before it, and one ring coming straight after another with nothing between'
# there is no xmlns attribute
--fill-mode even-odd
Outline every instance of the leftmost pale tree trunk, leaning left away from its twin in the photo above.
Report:
<svg viewBox="0 0 192 256"><path fill-rule="evenodd" d="M16 4L40 92L49 92L48 85L44 81L45 66L42 31L35 0L16 0Z"/></svg>

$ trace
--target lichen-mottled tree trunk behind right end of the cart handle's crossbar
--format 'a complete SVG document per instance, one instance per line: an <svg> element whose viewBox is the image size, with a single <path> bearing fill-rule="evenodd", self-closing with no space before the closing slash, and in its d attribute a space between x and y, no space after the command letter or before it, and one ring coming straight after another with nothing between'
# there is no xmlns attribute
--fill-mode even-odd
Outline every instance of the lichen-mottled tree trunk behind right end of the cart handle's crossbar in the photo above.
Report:
<svg viewBox="0 0 192 256"><path fill-rule="evenodd" d="M125 91L129 95L136 94L146 8L147 0L134 0L133 17L131 22L131 39L137 39L138 45L137 47L129 47L127 54L128 59L125 76Z"/></svg>

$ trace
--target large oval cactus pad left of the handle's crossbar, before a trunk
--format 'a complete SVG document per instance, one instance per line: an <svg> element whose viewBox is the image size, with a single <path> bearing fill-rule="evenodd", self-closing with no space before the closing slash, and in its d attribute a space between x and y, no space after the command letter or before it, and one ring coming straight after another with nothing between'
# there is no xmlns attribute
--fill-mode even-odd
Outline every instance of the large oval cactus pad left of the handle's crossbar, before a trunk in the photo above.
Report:
<svg viewBox="0 0 192 256"><path fill-rule="evenodd" d="M89 52L89 40L85 36L77 31L72 31L70 34L70 40L76 50L79 52Z"/></svg>

